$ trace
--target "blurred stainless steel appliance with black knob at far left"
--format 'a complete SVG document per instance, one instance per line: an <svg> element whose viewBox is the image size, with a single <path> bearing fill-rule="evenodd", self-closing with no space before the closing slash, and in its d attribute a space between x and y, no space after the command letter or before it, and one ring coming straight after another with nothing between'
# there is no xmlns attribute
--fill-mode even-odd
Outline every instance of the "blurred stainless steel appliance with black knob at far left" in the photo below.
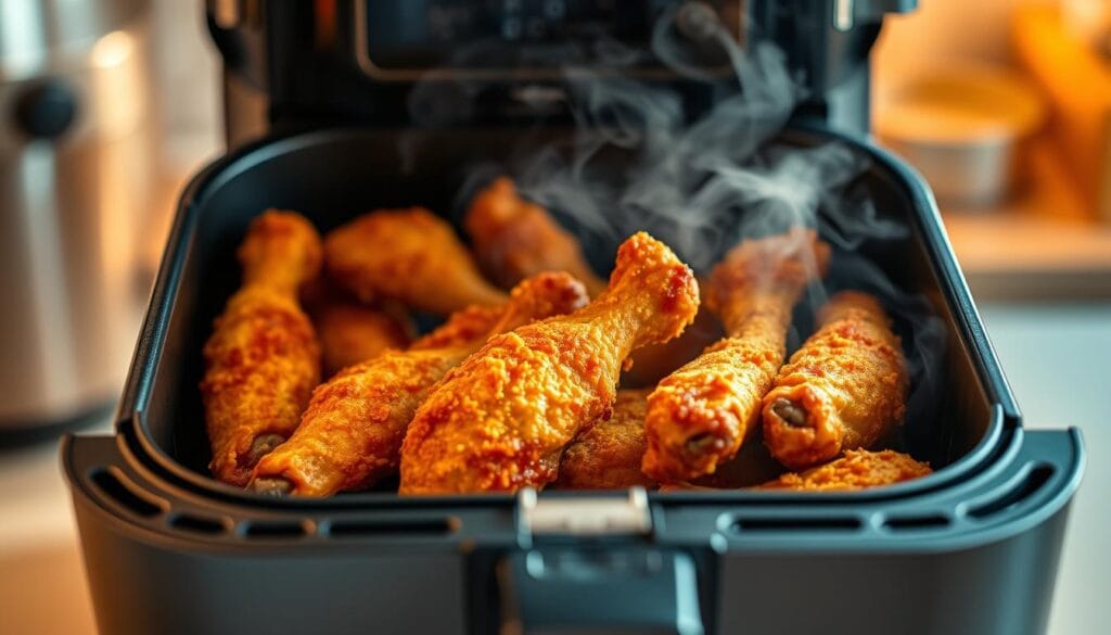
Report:
<svg viewBox="0 0 1111 635"><path fill-rule="evenodd" d="M122 386L150 182L147 4L0 2L0 435L81 420Z"/></svg>

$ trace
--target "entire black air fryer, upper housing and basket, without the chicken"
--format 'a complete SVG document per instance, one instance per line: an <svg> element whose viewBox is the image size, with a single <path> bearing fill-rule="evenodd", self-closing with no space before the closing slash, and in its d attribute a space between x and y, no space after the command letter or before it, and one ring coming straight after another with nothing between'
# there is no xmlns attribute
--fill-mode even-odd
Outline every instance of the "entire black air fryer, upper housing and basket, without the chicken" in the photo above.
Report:
<svg viewBox="0 0 1111 635"><path fill-rule="evenodd" d="M234 246L254 216L296 209L322 231L370 207L423 205L451 216L474 163L509 162L524 123L541 143L573 133L558 108L538 127L534 110L526 119L516 106L517 89L550 95L543 89L556 78L476 73L483 69L444 61L449 49L424 37L380 33L372 42L376 28L360 26L372 6L410 11L416 22L394 22L401 31L424 23L429 7L463 4L209 2L237 147L182 195L116 434L72 437L62 450L101 631L1043 633L1083 469L1081 438L1022 428L932 196L905 165L859 138L880 16L911 2L627 4L710 6L735 18L743 46L749 33L767 34L810 89L771 143L834 141L865 159L853 187L875 202L877 222L908 231L865 240L859 252L924 298L944 331L935 414L909 424L907 438L934 474L820 495L377 490L328 499L262 497L208 475L200 351L238 285ZM481 108L437 126L412 121L407 96L430 77L406 71L444 63L456 66L432 73L432 86L477 81L467 86L479 87L471 103ZM674 81L658 70L649 63L644 81ZM695 107L720 96L707 83L674 88ZM602 261L613 248L587 256ZM567 517L584 522L551 520Z"/></svg>

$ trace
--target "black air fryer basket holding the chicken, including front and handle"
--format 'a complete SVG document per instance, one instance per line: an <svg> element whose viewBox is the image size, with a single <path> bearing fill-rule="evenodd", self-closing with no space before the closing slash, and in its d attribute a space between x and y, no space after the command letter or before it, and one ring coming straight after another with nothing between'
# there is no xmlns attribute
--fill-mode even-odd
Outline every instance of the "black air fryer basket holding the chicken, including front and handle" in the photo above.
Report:
<svg viewBox="0 0 1111 635"><path fill-rule="evenodd" d="M781 142L833 138L794 129ZM840 140L871 159L854 187L911 229L861 252L924 296L947 331L940 398L907 431L934 475L842 494L539 499L270 499L216 483L200 351L238 285L233 255L251 218L296 209L328 230L372 208L448 212L469 167L504 160L520 133L359 129L268 140L186 191L117 435L63 448L101 631L1042 632L1082 468L1079 434L1022 429L921 180ZM591 505L599 499L612 504ZM542 507L598 523L583 535L542 522Z"/></svg>

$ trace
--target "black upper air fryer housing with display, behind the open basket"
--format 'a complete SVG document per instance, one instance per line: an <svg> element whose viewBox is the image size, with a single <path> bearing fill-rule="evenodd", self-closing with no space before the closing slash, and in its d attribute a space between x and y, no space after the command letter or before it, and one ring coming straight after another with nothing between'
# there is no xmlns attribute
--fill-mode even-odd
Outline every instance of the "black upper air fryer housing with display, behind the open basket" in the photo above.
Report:
<svg viewBox="0 0 1111 635"><path fill-rule="evenodd" d="M868 54L883 16L917 0L207 0L224 62L228 141L342 123L517 125L574 73L664 85L691 111L735 91L757 41L805 89L797 116L868 129ZM734 43L737 46L734 46ZM743 89L743 87L742 87ZM467 108L449 100L466 93ZM534 106L531 97L527 100ZM558 100L550 100L556 103ZM560 116L541 109L544 122ZM417 111L420 111L419 109ZM554 113L554 115L553 115ZM569 119L565 115L564 119Z"/></svg>

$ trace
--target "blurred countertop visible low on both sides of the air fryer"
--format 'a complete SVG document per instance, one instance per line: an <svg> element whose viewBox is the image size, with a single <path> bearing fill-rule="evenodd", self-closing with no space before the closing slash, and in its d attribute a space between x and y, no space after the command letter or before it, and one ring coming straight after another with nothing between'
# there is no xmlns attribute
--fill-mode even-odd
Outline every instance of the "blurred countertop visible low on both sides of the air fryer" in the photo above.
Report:
<svg viewBox="0 0 1111 635"><path fill-rule="evenodd" d="M982 310L1027 425L1078 426L1088 445L1050 633L1105 633L1097 607L1111 597L1111 302ZM57 443L0 450L0 615L6 634L94 632Z"/></svg>

